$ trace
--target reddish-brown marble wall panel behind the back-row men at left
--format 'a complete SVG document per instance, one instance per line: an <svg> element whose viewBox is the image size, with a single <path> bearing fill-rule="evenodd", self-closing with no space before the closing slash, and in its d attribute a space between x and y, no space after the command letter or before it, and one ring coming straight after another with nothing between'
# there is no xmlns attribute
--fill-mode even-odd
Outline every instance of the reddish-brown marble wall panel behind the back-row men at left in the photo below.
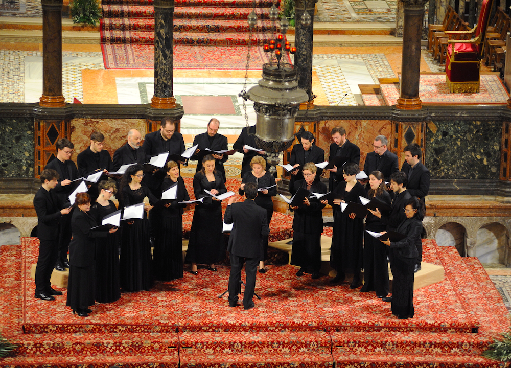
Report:
<svg viewBox="0 0 511 368"><path fill-rule="evenodd" d="M146 134L145 119L73 119L71 121L71 142L75 145L72 159L76 163L78 153L90 146L90 133L99 130L105 135L105 146L113 156L115 150L126 144L130 129L137 129L144 138Z"/></svg>

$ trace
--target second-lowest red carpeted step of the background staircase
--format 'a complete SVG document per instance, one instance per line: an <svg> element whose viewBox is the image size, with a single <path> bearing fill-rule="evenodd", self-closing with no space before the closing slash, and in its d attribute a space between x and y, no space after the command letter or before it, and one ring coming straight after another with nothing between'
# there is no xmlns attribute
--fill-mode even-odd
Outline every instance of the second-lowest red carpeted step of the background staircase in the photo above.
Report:
<svg viewBox="0 0 511 368"><path fill-rule="evenodd" d="M154 19L152 18L105 18L101 19L100 27L103 31L143 31L154 32ZM272 33L273 22L259 20L253 33ZM246 21L217 19L214 22L208 19L175 19L174 32L217 32L217 33L249 33Z"/></svg>

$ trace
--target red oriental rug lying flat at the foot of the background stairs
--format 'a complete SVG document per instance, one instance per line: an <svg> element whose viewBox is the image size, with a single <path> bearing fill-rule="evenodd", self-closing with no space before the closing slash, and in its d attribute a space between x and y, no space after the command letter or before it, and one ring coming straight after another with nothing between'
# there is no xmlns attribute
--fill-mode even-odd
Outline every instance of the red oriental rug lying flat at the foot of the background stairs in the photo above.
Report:
<svg viewBox="0 0 511 368"><path fill-rule="evenodd" d="M105 69L153 69L154 47L146 44L101 44ZM261 70L270 61L262 47L250 49L250 70ZM247 47L174 46L174 69L244 70ZM291 62L289 56L285 62Z"/></svg>

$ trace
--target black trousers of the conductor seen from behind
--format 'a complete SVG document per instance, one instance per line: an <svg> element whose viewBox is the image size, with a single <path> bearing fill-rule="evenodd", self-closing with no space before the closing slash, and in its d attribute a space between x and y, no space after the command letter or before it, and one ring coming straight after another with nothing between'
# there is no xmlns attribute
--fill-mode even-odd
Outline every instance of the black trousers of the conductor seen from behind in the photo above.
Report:
<svg viewBox="0 0 511 368"><path fill-rule="evenodd" d="M259 258L245 258L230 254L230 275L229 275L229 305L234 306L238 302L238 294L241 292L241 269L245 266L245 292L243 296L243 307L252 306L252 298L255 290L255 274L259 265Z"/></svg>

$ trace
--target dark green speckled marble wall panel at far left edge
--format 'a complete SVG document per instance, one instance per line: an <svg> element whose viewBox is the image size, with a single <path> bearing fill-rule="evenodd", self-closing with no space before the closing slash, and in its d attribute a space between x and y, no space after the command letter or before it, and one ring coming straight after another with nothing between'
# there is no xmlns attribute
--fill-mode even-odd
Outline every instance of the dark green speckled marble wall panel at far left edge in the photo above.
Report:
<svg viewBox="0 0 511 368"><path fill-rule="evenodd" d="M34 177L34 120L0 119L0 177Z"/></svg>

